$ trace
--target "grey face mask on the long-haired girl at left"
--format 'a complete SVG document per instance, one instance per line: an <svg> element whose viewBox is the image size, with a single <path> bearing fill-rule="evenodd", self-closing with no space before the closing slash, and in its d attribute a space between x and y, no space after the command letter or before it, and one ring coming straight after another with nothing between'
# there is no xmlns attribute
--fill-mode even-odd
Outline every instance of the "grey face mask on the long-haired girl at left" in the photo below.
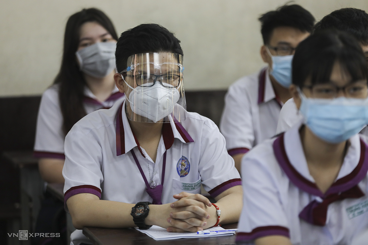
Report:
<svg viewBox="0 0 368 245"><path fill-rule="evenodd" d="M95 43L75 53L82 72L103 78L115 69L116 43Z"/></svg>

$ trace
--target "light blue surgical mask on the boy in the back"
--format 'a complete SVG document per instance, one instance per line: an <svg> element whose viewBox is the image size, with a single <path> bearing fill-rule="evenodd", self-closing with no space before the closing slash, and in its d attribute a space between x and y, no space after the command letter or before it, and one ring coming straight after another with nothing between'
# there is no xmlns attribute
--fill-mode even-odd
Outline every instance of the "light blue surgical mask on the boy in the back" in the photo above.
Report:
<svg viewBox="0 0 368 245"><path fill-rule="evenodd" d="M294 55L273 56L268 47L266 50L272 58L272 71L270 74L283 87L289 88L291 85L291 62Z"/></svg>

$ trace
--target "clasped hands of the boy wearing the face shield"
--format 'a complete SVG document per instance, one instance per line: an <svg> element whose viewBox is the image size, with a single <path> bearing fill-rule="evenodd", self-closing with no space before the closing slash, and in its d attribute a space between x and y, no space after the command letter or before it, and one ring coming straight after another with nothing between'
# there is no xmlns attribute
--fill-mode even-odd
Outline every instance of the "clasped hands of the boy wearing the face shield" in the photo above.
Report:
<svg viewBox="0 0 368 245"><path fill-rule="evenodd" d="M178 201L160 205L157 225L169 232L197 232L216 224L216 208L208 198L188 192L176 194L174 198Z"/></svg>

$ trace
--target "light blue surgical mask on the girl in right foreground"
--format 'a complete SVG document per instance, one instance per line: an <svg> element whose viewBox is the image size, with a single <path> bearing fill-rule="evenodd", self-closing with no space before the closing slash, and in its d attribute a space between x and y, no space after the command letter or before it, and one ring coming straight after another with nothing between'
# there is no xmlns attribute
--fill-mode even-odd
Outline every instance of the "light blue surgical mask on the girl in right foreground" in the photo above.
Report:
<svg viewBox="0 0 368 245"><path fill-rule="evenodd" d="M299 94L299 110L305 125L326 142L343 142L368 124L368 98L318 99L307 98L301 92Z"/></svg>

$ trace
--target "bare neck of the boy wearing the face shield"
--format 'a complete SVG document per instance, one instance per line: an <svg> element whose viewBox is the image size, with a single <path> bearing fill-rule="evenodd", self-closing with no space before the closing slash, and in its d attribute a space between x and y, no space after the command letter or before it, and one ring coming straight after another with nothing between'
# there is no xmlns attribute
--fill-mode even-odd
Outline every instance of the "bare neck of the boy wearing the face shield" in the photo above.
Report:
<svg viewBox="0 0 368 245"><path fill-rule="evenodd" d="M153 161L156 161L163 123L135 122L129 120L129 125L139 145L145 149Z"/></svg>

